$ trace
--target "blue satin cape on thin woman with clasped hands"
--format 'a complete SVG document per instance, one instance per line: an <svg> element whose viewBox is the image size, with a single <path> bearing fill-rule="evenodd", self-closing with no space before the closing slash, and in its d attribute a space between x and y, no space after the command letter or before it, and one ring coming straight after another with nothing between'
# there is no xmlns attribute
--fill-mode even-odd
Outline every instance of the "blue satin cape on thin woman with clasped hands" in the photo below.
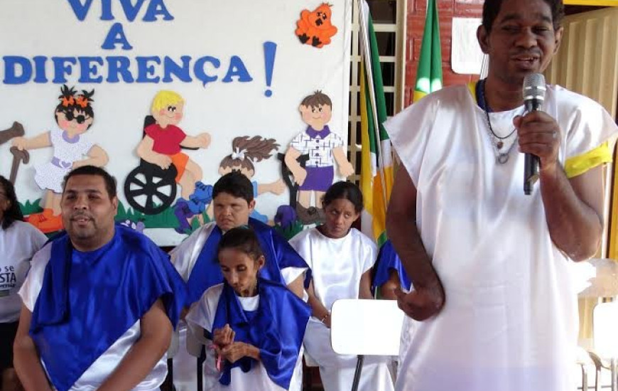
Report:
<svg viewBox="0 0 618 391"><path fill-rule="evenodd" d="M270 379L288 390L311 308L285 286L261 277L258 279L258 292L258 309L244 311L234 289L224 282L212 331L229 323L235 333L234 341L259 348L261 363ZM229 385L232 368L240 367L246 373L254 363L255 360L249 357L241 358L234 364L226 360L219 382Z"/></svg>

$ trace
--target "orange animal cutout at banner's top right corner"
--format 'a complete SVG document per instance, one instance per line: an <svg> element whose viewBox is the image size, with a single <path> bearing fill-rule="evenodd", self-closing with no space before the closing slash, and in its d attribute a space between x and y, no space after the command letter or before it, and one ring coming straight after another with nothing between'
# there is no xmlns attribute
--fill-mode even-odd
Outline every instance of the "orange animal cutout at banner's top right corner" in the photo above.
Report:
<svg viewBox="0 0 618 391"><path fill-rule="evenodd" d="M330 7L330 4L322 3L311 12L303 9L296 22L298 28L295 31L300 42L315 48L322 48L330 43L330 38L337 33L337 28L330 23Z"/></svg>

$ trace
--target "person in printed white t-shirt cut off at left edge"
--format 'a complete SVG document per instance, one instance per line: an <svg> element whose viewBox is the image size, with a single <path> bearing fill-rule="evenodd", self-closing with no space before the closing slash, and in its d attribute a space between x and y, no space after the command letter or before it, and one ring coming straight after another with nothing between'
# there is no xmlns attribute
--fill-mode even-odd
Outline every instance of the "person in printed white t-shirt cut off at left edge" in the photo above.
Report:
<svg viewBox="0 0 618 391"><path fill-rule="evenodd" d="M30 260L47 237L23 221L13 183L0 176L0 390L18 390L13 369L13 341L21 299L17 292L26 279Z"/></svg>

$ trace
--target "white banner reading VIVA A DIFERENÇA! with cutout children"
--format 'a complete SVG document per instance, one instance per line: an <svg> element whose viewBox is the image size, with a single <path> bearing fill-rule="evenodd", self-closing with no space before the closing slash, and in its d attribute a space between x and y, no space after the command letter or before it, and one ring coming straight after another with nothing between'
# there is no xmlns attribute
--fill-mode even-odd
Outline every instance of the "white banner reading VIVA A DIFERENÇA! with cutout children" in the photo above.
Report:
<svg viewBox="0 0 618 391"><path fill-rule="evenodd" d="M253 183L253 217L285 229L315 223L325 182L349 174L352 0L2 5L0 174L43 232L62 229L62 178L85 164L158 245L212 220L229 171Z"/></svg>

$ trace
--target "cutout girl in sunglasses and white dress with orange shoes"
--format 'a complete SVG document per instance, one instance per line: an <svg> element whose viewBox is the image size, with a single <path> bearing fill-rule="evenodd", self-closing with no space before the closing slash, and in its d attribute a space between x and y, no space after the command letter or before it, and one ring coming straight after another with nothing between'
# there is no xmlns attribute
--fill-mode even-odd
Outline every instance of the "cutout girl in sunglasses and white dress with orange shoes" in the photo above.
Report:
<svg viewBox="0 0 618 391"><path fill-rule="evenodd" d="M55 232L63 228L60 217L60 198L63 192L63 179L73 168L79 166L104 166L109 161L105 151L92 144L83 134L94 121L92 95L94 90L81 93L75 87L63 85L60 88L60 102L54 111L58 127L31 139L16 137L13 146L19 150L53 147L53 158L45 164L36 166L34 180L45 190L43 212L33 213L28 222L43 232Z"/></svg>

